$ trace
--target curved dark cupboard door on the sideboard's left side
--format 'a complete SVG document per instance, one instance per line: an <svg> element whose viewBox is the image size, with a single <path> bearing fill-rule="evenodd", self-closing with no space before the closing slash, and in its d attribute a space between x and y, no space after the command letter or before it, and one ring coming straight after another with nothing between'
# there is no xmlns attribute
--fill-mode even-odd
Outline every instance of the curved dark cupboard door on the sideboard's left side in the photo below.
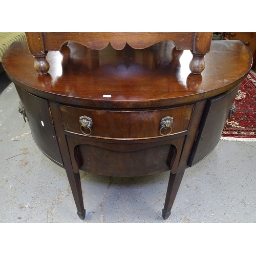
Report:
<svg viewBox="0 0 256 256"><path fill-rule="evenodd" d="M17 86L16 90L24 106L35 143L46 156L62 165L48 100L34 96Z"/></svg>

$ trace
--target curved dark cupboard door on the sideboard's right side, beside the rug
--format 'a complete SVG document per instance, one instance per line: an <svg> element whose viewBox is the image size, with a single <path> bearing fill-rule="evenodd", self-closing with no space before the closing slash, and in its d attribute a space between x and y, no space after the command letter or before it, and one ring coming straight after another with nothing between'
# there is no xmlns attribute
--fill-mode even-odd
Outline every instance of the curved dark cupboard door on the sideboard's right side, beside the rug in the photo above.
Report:
<svg viewBox="0 0 256 256"><path fill-rule="evenodd" d="M188 166L191 167L200 162L218 144L238 89L239 86L206 101L198 136L188 159Z"/></svg>

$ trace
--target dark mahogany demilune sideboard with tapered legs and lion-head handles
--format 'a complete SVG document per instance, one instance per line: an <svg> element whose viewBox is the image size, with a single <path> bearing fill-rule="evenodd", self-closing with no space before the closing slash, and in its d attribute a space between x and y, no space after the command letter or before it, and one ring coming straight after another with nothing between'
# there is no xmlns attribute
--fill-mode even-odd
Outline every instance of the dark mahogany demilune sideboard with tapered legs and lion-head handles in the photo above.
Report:
<svg viewBox="0 0 256 256"><path fill-rule="evenodd" d="M189 70L190 51L171 41L122 50L69 41L46 59L49 71L39 75L27 43L13 42L3 67L34 141L65 168L81 219L79 170L123 177L170 172L167 219L185 169L219 142L252 65L248 48L236 40L212 41L198 75Z"/></svg>

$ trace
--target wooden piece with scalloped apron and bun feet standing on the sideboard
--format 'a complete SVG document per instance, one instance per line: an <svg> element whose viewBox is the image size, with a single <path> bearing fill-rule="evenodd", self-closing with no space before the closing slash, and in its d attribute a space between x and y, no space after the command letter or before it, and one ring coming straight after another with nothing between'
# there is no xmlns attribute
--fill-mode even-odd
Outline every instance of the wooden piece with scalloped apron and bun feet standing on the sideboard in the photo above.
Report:
<svg viewBox="0 0 256 256"><path fill-rule="evenodd" d="M58 51L68 41L76 41L93 50L101 50L111 44L121 50L126 43L134 49L144 49L163 40L172 40L177 50L190 50L193 59L190 71L201 74L205 68L204 55L210 50L212 33L26 33L30 53L35 57L34 67L39 74L47 74L48 51Z"/></svg>

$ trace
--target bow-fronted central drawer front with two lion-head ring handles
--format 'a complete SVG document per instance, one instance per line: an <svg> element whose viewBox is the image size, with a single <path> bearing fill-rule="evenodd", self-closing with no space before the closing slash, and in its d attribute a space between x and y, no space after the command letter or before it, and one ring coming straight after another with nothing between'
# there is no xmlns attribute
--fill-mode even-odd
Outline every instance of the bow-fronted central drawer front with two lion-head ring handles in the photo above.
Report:
<svg viewBox="0 0 256 256"><path fill-rule="evenodd" d="M124 139L162 136L159 133L162 127L161 119L166 116L173 117L172 129L163 128L162 134L171 132L172 135L187 131L193 110L194 104L153 111L103 111L60 105L62 123L66 131L89 134L90 130L81 127L79 122L79 117L87 116L92 119L90 136Z"/></svg>

